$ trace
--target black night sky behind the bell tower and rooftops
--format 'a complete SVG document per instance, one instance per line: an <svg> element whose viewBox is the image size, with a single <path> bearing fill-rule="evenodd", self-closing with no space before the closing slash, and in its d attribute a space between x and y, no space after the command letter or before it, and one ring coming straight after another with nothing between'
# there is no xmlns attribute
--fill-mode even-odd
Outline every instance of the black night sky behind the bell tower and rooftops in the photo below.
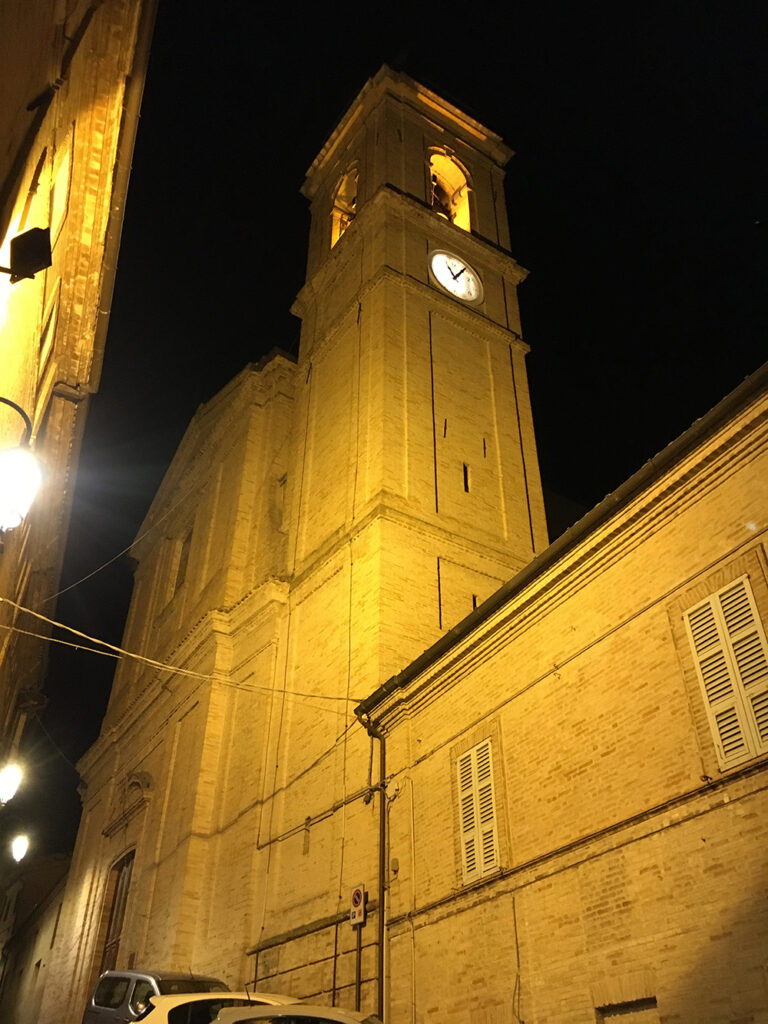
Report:
<svg viewBox="0 0 768 1024"><path fill-rule="evenodd" d="M495 8L496 5L493 5ZM615 488L766 354L766 15L759 4L316 5L160 0L102 385L63 584L138 528L200 402L296 350L299 187L383 62L499 132L545 486ZM368 24L367 17L372 24ZM182 16L183 15L183 16ZM120 642L124 559L58 617ZM58 649L18 812L74 838L75 761L112 676ZM60 753L59 753L60 752Z"/></svg>

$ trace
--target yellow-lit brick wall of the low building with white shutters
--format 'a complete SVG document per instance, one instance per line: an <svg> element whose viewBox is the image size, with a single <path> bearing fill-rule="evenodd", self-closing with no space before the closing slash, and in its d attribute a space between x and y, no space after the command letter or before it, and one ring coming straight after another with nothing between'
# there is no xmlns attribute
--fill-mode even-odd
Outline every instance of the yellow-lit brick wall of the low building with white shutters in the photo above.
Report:
<svg viewBox="0 0 768 1024"><path fill-rule="evenodd" d="M765 761L718 768L681 628L743 572L768 622L765 406L382 710L394 1020L768 1014ZM483 737L501 868L465 886L455 758Z"/></svg>

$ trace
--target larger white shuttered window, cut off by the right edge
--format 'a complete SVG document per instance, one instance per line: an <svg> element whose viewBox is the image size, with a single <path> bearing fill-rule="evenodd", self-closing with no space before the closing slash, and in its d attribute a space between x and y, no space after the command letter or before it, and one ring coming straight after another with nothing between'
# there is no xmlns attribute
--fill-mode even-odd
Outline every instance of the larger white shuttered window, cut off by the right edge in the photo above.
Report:
<svg viewBox="0 0 768 1024"><path fill-rule="evenodd" d="M721 766L768 751L768 644L749 579L684 617Z"/></svg>

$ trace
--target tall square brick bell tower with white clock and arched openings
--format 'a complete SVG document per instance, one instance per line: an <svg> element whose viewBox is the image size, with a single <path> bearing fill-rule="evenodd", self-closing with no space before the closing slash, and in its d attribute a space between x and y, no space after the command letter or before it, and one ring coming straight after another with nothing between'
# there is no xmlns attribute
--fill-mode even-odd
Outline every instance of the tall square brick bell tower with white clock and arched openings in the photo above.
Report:
<svg viewBox="0 0 768 1024"><path fill-rule="evenodd" d="M346 552L357 692L547 545L516 294L526 271L504 203L510 156L384 67L303 186L289 571L316 586Z"/></svg>

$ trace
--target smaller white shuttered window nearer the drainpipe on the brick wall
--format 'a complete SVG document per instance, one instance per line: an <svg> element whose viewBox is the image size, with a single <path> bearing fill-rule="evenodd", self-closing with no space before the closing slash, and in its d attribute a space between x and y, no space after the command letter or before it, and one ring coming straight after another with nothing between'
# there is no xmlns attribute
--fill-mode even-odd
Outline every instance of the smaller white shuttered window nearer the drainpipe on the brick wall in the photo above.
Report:
<svg viewBox="0 0 768 1024"><path fill-rule="evenodd" d="M459 823L465 882L499 866L499 833L494 798L494 762L489 739L462 754L459 773Z"/></svg>

